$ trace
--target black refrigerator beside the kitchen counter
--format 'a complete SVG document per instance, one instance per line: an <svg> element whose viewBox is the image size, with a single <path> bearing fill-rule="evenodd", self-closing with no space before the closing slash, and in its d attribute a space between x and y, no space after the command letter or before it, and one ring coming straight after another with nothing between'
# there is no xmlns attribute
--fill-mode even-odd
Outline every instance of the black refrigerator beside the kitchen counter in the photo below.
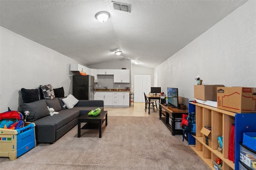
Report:
<svg viewBox="0 0 256 170"><path fill-rule="evenodd" d="M73 75L73 96L78 100L94 100L95 79L91 75Z"/></svg>

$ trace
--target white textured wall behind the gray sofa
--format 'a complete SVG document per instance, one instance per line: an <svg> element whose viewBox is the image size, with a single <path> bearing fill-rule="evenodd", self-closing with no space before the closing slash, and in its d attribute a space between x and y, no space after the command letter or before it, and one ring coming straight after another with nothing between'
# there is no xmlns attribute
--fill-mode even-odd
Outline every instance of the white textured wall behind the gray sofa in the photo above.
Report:
<svg viewBox="0 0 256 170"><path fill-rule="evenodd" d="M20 89L51 84L72 93L70 63L78 61L0 27L0 113L17 110ZM80 63L81 64L81 63Z"/></svg>

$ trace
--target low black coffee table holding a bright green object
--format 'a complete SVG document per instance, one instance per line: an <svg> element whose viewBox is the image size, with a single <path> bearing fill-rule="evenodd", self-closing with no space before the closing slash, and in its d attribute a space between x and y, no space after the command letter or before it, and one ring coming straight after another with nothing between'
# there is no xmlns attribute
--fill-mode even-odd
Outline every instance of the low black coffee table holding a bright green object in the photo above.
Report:
<svg viewBox="0 0 256 170"><path fill-rule="evenodd" d="M101 111L98 116L88 116L88 113L78 118L77 137L80 138L81 129L99 129L101 138L102 124L105 122L105 125L108 126L108 111ZM105 119L103 119L104 117ZM81 128L82 122L86 122L86 124Z"/></svg>

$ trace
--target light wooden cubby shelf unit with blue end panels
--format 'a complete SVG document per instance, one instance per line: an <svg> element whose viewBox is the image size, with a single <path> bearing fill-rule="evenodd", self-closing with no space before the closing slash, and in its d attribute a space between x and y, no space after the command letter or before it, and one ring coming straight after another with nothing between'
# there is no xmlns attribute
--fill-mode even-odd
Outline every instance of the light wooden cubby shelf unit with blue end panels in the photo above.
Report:
<svg viewBox="0 0 256 170"><path fill-rule="evenodd" d="M191 135L188 144L198 156L214 170L212 160L222 160L222 170L238 170L239 142L242 142L243 132L256 132L256 113L234 113L217 109L200 103L188 103L188 113L196 113L196 135ZM242 120L243 119L243 120ZM235 162L228 159L231 125L235 124ZM208 145L206 136L200 131L203 127L211 127ZM223 137L222 153L217 150L218 136Z"/></svg>

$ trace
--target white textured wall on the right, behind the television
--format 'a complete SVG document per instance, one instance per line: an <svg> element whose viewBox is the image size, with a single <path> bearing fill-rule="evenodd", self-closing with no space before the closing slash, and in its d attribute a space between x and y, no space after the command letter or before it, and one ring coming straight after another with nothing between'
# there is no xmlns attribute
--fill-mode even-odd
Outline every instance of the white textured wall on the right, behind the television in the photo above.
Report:
<svg viewBox="0 0 256 170"><path fill-rule="evenodd" d="M154 69L158 85L178 87L179 103L194 99L203 84L256 87L256 1L250 0Z"/></svg>

